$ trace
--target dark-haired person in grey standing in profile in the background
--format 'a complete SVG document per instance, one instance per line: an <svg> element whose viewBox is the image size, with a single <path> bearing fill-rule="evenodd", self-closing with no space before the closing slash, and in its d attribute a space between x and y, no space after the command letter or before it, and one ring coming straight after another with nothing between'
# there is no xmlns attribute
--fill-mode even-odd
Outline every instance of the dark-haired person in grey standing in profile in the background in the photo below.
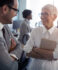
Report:
<svg viewBox="0 0 58 70"><path fill-rule="evenodd" d="M24 40L24 36L28 33L31 32L31 27L30 27L30 20L32 19L32 11L29 10L29 9L25 9L23 12L22 12L22 15L23 15L23 22L20 26L20 37L19 37L19 40L22 44L26 44L26 41L28 40L28 37L25 38L26 40Z"/></svg>

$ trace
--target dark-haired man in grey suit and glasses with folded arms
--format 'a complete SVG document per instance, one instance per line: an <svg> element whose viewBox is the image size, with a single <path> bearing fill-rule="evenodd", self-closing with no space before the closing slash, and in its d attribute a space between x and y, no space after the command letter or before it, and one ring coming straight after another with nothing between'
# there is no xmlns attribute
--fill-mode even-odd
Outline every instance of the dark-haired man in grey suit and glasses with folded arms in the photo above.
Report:
<svg viewBox="0 0 58 70"><path fill-rule="evenodd" d="M6 24L18 12L17 0L0 0L0 70L17 70L22 50Z"/></svg>

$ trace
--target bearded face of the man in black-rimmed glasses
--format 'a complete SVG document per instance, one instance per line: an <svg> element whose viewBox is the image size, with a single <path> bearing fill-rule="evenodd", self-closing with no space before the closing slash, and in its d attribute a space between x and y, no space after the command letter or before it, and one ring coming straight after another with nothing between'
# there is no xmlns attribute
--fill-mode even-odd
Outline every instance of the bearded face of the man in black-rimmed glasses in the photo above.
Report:
<svg viewBox="0 0 58 70"><path fill-rule="evenodd" d="M17 15L17 11L14 10L14 9L17 9L18 8L18 1L17 0L14 0L14 5L11 6L11 7L8 7L7 6L7 10L3 10L3 20L5 21L6 24L11 24L12 23L12 18L14 16Z"/></svg>

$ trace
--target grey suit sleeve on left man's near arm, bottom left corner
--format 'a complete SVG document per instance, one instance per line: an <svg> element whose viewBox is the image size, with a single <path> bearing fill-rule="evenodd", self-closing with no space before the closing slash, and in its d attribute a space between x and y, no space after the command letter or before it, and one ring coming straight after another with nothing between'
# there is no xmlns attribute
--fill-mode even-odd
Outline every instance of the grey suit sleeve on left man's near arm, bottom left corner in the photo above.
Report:
<svg viewBox="0 0 58 70"><path fill-rule="evenodd" d="M0 38L0 70L17 70L18 63L14 61L4 44L4 39Z"/></svg>

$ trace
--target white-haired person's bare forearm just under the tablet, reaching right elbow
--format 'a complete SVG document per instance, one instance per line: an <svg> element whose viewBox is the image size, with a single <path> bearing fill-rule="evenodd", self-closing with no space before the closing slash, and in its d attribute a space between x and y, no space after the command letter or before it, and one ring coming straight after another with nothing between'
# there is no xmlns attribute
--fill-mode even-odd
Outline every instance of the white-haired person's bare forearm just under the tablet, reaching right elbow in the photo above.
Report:
<svg viewBox="0 0 58 70"><path fill-rule="evenodd" d="M55 60L53 58L53 51L52 50L45 50L45 49L40 49L40 48L33 48L33 51L40 55L41 59L46 59L46 60Z"/></svg>

